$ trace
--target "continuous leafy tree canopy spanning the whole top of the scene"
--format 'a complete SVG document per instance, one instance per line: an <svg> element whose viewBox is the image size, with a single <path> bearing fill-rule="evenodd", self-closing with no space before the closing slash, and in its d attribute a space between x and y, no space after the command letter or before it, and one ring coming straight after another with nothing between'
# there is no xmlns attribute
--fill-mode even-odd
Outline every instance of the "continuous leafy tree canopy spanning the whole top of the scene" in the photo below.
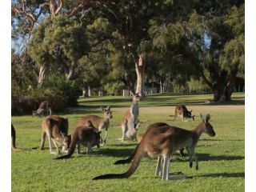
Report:
<svg viewBox="0 0 256 192"><path fill-rule="evenodd" d="M244 1L12 1L12 27L38 86L49 74L140 92L145 81L174 87L193 78L213 101L228 101L244 78Z"/></svg>

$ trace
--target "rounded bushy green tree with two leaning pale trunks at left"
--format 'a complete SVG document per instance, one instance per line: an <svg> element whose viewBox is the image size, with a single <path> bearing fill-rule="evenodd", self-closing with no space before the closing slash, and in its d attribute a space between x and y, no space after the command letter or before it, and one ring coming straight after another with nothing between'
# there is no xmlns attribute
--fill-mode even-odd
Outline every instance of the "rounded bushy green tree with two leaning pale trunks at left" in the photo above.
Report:
<svg viewBox="0 0 256 192"><path fill-rule="evenodd" d="M78 22L62 14L46 18L34 29L29 44L30 57L39 69L38 87L49 70L64 72L67 80L73 78L78 59L89 49L86 29Z"/></svg>

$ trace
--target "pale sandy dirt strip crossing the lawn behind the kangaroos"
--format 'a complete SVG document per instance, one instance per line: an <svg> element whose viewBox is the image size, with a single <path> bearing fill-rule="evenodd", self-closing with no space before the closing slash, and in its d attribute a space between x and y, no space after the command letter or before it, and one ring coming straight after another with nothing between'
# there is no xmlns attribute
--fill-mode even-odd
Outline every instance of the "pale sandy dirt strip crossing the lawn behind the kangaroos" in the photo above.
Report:
<svg viewBox="0 0 256 192"><path fill-rule="evenodd" d="M193 110L196 113L210 113L210 112L228 112L230 110L245 110L244 105L230 105L230 106L186 106L188 110ZM143 114L174 114L175 106L149 106L140 107L140 113ZM114 111L125 112L129 108L112 108Z"/></svg>

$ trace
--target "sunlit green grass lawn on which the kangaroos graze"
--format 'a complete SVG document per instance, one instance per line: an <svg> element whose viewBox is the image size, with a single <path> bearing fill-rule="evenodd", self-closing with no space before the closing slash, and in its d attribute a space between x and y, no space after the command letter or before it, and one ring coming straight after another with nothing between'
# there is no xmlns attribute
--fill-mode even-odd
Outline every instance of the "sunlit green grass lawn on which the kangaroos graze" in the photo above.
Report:
<svg viewBox="0 0 256 192"><path fill-rule="evenodd" d="M193 129L199 123L199 113L211 114L211 124L216 136L210 138L202 134L196 153L199 170L190 169L188 157L174 155L170 162L171 172L181 171L186 179L162 181L154 176L157 159L142 158L138 170L127 179L92 181L99 174L123 173L130 165L114 165L118 159L126 158L135 148L132 141L121 143L120 122L130 106L131 98L103 97L81 98L79 106L59 114L68 117L70 131L78 120L86 114L102 116L100 106L111 106L113 118L110 121L108 141L93 155L74 154L68 160L54 160L46 150L12 151L12 191L244 191L245 187L245 111L244 94L234 94L234 101L209 104L210 94L148 96L139 102L140 120L138 133L154 122ZM180 118L171 121L174 105L185 103L196 115L195 122L182 122ZM14 116L12 123L16 129L17 146L31 149L39 146L42 118ZM104 133L103 133L104 134ZM86 148L82 148L86 151Z"/></svg>

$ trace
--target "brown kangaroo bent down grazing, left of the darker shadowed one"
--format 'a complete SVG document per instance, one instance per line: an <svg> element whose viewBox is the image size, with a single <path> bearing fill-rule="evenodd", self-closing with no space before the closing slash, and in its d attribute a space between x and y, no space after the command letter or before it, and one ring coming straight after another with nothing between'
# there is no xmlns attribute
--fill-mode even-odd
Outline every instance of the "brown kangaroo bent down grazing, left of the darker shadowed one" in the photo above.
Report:
<svg viewBox="0 0 256 192"><path fill-rule="evenodd" d="M52 142L56 147L57 154L60 154L58 145L62 146L64 152L70 147L71 135L68 135L69 122L67 118L61 118L57 115L49 115L42 120L42 134L40 150L43 150L46 134L49 138L50 154L56 154L52 149Z"/></svg>

